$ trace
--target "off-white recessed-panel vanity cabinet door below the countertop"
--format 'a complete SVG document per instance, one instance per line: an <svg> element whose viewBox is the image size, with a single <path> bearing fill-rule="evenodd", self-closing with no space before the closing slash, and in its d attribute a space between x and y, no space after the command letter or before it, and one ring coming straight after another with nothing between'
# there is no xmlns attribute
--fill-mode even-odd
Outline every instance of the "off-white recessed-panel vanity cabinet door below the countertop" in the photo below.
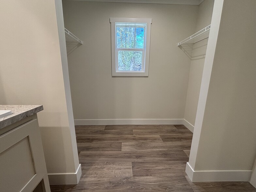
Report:
<svg viewBox="0 0 256 192"><path fill-rule="evenodd" d="M0 191L31 192L42 181L50 191L38 120L0 136Z"/></svg>

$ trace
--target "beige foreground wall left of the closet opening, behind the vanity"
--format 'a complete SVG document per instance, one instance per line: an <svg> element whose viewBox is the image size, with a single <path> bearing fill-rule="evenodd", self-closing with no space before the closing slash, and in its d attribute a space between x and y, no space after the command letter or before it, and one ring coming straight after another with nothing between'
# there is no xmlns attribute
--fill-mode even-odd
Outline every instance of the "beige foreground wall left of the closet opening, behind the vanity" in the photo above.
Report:
<svg viewBox="0 0 256 192"><path fill-rule="evenodd" d="M74 173L54 1L1 1L0 103L42 104L38 114L48 173Z"/></svg>

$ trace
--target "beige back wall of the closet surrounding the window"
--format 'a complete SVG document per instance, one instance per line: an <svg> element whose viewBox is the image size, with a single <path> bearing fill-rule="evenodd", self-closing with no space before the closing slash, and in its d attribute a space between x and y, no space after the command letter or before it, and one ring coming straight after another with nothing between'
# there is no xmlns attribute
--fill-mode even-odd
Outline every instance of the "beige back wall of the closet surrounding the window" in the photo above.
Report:
<svg viewBox="0 0 256 192"><path fill-rule="evenodd" d="M74 119L183 119L190 59L176 43L193 34L199 6L63 1ZM110 17L152 18L149 77L112 77Z"/></svg>

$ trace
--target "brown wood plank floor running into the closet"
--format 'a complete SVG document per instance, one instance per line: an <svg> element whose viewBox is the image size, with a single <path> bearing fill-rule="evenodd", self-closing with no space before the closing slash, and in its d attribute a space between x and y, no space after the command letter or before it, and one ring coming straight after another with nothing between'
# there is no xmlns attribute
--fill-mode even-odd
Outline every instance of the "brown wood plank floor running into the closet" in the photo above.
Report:
<svg viewBox="0 0 256 192"><path fill-rule="evenodd" d="M75 127L82 176L51 191L256 191L248 182L192 183L185 173L192 133L184 125Z"/></svg>

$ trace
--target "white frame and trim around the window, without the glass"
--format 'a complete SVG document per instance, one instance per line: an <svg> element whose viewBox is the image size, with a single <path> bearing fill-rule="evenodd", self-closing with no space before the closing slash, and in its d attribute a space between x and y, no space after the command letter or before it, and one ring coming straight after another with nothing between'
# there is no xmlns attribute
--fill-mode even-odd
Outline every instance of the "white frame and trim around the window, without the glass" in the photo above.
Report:
<svg viewBox="0 0 256 192"><path fill-rule="evenodd" d="M146 18L110 18L111 23L111 61L112 76L149 76L149 53L150 53L150 33L152 19ZM142 70L141 71L118 71L118 51L128 51L127 49L117 48L116 45L116 23L143 23L145 27L144 50L129 49L130 51L142 51Z"/></svg>

